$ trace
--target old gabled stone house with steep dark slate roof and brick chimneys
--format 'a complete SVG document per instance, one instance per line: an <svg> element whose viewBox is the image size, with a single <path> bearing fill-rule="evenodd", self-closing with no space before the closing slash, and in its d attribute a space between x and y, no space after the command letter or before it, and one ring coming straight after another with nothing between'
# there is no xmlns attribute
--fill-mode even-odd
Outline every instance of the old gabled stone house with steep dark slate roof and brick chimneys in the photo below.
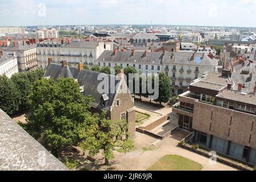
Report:
<svg viewBox="0 0 256 182"><path fill-rule="evenodd" d="M126 85L123 70L119 77L106 75L103 73L82 70L84 64L79 63L79 68L69 67L67 61L62 61L61 64L51 63L47 67L44 77L57 80L60 77L74 78L79 82L81 94L84 96L92 96L92 112L101 113L106 111L107 116L113 121L127 121L128 132L130 137L135 137L135 110L134 99ZM102 82L102 76L106 81L108 88L104 88L104 92L98 90L98 85Z"/></svg>

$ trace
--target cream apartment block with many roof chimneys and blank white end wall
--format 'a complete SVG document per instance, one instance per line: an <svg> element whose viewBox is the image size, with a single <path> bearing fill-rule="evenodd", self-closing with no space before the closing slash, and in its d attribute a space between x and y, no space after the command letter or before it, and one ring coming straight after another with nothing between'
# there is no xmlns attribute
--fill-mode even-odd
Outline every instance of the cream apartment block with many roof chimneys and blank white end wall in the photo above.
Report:
<svg viewBox="0 0 256 182"><path fill-rule="evenodd" d="M78 67L80 62L93 65L101 53L105 51L104 42L55 40L46 40L37 44L38 66L40 68L47 67L48 57L52 57L54 63L67 60L72 67Z"/></svg>

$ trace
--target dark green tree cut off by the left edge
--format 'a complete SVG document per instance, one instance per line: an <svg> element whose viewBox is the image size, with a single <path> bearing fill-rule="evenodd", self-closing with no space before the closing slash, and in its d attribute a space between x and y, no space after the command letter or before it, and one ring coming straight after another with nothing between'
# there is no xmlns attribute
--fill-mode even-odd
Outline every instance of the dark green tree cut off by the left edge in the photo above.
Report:
<svg viewBox="0 0 256 182"><path fill-rule="evenodd" d="M8 115L19 110L20 92L14 82L6 76L0 76L0 109Z"/></svg>

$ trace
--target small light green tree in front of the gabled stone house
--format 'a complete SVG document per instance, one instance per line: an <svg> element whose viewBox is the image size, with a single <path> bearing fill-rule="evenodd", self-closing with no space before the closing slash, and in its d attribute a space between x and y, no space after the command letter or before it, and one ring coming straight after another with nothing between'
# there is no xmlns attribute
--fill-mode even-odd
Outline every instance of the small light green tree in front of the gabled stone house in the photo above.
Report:
<svg viewBox="0 0 256 182"><path fill-rule="evenodd" d="M98 117L100 116L98 115ZM120 146L125 152L133 150L133 140L122 140L122 137L127 134L126 131L126 121L112 122L106 119L103 114L100 119L94 117L90 127L80 128L79 136L82 142L79 143L79 146L84 151L88 150L92 157L102 150L105 164L108 165L109 160L114 158L113 149L115 146Z"/></svg>

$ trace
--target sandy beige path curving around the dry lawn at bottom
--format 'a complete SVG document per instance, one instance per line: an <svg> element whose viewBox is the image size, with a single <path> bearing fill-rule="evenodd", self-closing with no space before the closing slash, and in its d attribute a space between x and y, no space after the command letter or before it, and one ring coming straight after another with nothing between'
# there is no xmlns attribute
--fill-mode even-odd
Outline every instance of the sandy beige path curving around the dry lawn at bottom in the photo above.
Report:
<svg viewBox="0 0 256 182"><path fill-rule="evenodd" d="M158 160L165 155L180 155L200 163L203 166L204 171L236 170L221 163L217 163L215 165L209 164L208 158L195 154L191 151L184 150L183 148L176 147L179 141L174 138L167 138L159 142L154 150L141 150L142 147L150 147L155 141L155 138L137 133L137 137L135 138L137 150L128 154L115 152L115 167L119 170L144 171L158 162Z"/></svg>

